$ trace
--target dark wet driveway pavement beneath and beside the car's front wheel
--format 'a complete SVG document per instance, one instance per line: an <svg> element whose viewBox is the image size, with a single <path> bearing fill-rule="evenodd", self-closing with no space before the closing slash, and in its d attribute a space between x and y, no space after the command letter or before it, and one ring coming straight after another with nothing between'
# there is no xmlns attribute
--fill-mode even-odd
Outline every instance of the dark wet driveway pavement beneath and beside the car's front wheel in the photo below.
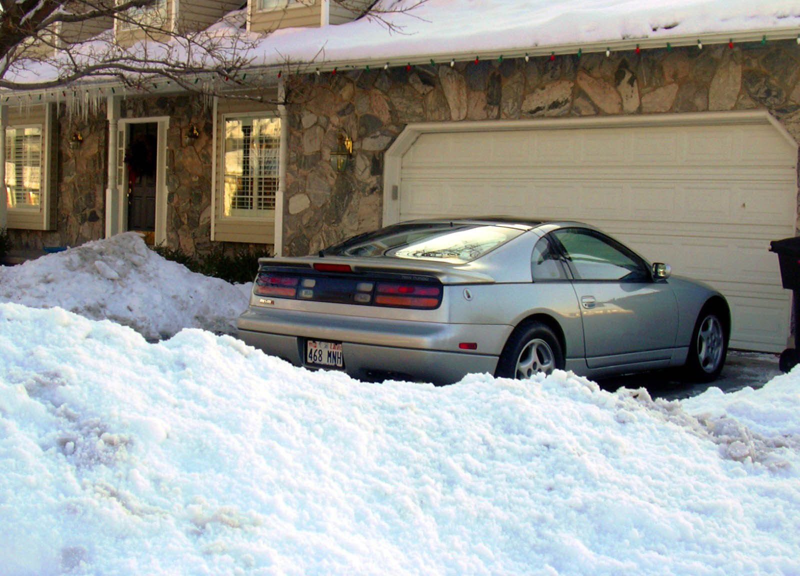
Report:
<svg viewBox="0 0 800 576"><path fill-rule="evenodd" d="M598 380L598 384L605 390L617 390L622 386L646 388L653 398L680 400L701 394L711 386L725 392L734 392L746 386L760 388L778 374L781 374L778 370L778 354L730 350L722 375L710 384L681 382L678 374L670 370L604 378Z"/></svg>

